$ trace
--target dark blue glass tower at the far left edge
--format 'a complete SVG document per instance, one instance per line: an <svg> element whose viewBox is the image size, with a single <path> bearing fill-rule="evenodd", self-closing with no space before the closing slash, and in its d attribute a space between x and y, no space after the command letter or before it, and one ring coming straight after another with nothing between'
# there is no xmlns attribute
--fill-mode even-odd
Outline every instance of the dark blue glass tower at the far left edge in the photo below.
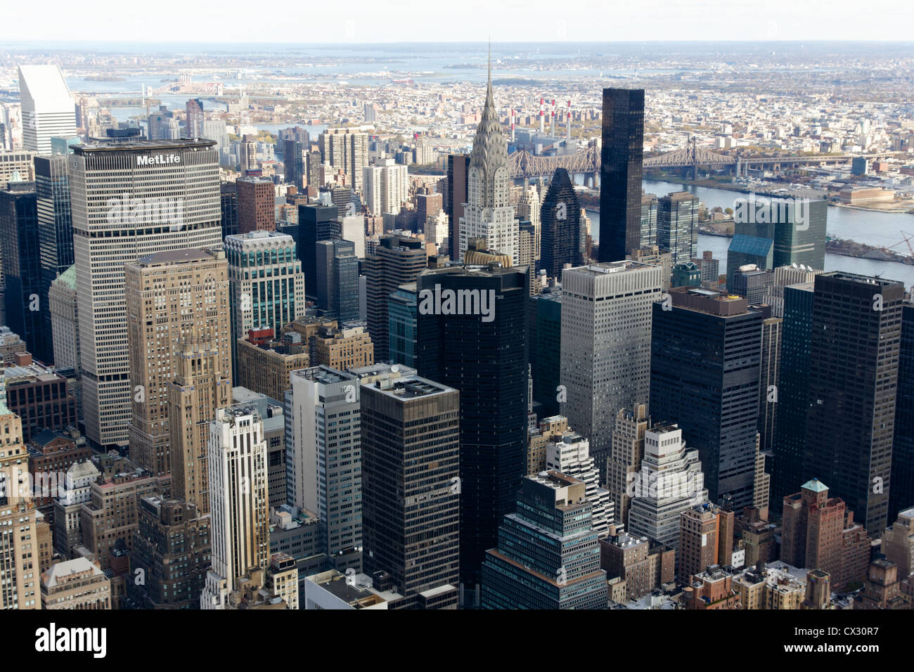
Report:
<svg viewBox="0 0 914 672"><path fill-rule="evenodd" d="M41 247L38 242L34 182L11 182L0 191L0 240L6 325L18 334L36 359L50 361L51 339L45 337L48 295L41 296Z"/></svg>

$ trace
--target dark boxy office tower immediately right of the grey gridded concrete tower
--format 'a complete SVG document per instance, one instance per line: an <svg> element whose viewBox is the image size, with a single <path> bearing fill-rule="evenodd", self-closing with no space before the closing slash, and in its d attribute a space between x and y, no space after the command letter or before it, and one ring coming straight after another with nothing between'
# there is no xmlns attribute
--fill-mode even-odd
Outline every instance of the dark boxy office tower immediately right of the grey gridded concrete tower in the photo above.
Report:
<svg viewBox="0 0 914 672"><path fill-rule="evenodd" d="M708 498L739 511L753 503L763 314L697 287L670 294L654 304L651 415L698 449Z"/></svg>

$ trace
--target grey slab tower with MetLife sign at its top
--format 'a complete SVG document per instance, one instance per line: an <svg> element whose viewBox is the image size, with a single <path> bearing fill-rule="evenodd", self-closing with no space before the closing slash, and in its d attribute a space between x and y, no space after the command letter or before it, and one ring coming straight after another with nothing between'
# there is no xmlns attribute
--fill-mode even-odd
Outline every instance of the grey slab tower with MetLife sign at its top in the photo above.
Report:
<svg viewBox="0 0 914 672"><path fill-rule="evenodd" d="M156 252L222 249L211 140L91 143L69 156L86 435L127 444L130 382L124 264Z"/></svg>

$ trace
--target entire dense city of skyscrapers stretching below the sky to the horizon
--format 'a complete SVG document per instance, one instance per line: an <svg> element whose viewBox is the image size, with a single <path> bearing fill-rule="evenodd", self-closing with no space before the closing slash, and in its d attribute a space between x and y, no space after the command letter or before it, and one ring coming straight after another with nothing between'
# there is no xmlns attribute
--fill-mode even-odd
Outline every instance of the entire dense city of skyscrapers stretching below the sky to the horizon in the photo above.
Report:
<svg viewBox="0 0 914 672"><path fill-rule="evenodd" d="M909 47L5 47L0 608L911 609Z"/></svg>

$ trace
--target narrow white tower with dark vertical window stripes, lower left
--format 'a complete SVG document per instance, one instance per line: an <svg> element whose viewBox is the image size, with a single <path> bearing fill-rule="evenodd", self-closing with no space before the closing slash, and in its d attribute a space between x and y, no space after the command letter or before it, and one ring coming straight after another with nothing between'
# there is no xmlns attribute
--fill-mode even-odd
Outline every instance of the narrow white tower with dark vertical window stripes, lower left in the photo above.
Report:
<svg viewBox="0 0 914 672"><path fill-rule="evenodd" d="M209 506L212 569L200 595L201 609L231 608L229 596L262 581L270 564L267 442L256 405L216 411L209 423Z"/></svg>

